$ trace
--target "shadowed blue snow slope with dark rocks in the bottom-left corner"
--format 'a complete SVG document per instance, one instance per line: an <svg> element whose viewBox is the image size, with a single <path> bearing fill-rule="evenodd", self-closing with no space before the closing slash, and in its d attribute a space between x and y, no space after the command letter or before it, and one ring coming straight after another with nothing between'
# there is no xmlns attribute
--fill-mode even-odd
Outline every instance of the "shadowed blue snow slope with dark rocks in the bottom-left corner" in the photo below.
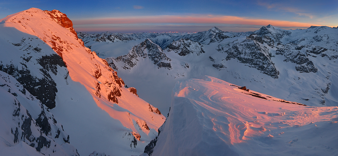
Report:
<svg viewBox="0 0 338 156"><path fill-rule="evenodd" d="M79 155L48 108L1 71L0 97L0 155Z"/></svg>

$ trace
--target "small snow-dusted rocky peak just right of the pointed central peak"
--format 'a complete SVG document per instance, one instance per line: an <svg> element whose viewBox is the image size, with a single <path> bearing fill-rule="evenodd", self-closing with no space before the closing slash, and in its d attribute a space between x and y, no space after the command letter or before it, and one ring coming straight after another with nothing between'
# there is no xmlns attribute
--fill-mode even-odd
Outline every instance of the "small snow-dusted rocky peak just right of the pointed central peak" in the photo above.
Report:
<svg viewBox="0 0 338 156"><path fill-rule="evenodd" d="M196 53L197 55L200 55L201 53L205 53L202 47L203 45L198 42L193 42L188 38L182 38L170 43L170 45L167 47L167 50L173 51L180 56L186 56L190 53Z"/></svg>

